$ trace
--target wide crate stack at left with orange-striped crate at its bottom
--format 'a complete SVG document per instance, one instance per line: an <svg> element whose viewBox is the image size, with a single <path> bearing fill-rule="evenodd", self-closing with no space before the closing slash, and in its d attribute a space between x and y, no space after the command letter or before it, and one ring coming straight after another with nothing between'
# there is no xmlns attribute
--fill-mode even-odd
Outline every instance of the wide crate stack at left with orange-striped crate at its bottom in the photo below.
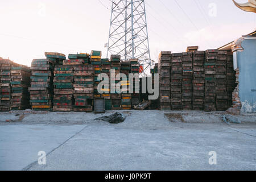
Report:
<svg viewBox="0 0 256 182"><path fill-rule="evenodd" d="M50 59L34 59L31 63L30 103L33 110L52 110L53 70Z"/></svg>

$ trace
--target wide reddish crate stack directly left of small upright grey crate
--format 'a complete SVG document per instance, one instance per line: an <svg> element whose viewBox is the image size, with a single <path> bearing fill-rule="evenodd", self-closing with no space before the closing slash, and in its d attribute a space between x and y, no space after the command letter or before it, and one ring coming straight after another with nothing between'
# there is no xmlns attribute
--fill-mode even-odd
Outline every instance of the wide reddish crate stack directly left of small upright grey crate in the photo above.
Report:
<svg viewBox="0 0 256 182"><path fill-rule="evenodd" d="M84 60L80 60L73 64L73 68L73 111L93 111L93 65L86 65Z"/></svg>

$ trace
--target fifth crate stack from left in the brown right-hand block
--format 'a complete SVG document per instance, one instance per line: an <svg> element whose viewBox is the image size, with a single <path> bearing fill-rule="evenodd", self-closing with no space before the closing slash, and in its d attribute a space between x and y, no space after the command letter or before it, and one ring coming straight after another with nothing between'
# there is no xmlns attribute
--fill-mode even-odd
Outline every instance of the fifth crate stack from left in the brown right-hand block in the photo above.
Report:
<svg viewBox="0 0 256 182"><path fill-rule="evenodd" d="M216 111L216 61L218 49L209 49L205 52L205 96L204 111Z"/></svg>

